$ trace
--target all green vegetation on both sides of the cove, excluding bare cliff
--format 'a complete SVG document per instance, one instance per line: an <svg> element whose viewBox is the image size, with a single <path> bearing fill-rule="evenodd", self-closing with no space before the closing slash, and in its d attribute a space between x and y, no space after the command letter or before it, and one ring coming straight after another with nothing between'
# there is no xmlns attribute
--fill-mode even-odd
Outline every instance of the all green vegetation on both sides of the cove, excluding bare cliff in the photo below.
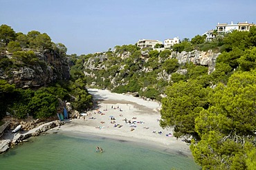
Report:
<svg viewBox="0 0 256 170"><path fill-rule="evenodd" d="M39 63L34 52L21 51L24 48L50 48L66 57L66 47L52 43L45 33L15 33L1 25L0 39L1 52L13 53L12 59L1 57L1 70ZM193 50L221 52L214 72L208 74L203 65L179 63L176 52ZM210 42L196 35L162 52L117 45L113 51L68 57L73 65L68 82L32 90L0 80L0 116L6 111L18 118L54 116L58 100L70 100L78 110L88 109L92 98L85 85L136 92L162 101L161 127L173 127L176 138L190 142L194 160L202 169L256 168L255 27L250 32L219 35Z"/></svg>

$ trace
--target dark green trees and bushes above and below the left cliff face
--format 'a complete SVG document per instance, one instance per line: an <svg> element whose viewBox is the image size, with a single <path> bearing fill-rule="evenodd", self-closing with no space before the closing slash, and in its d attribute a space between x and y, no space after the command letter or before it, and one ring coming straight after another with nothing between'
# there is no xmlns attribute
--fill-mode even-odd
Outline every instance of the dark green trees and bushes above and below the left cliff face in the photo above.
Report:
<svg viewBox="0 0 256 170"><path fill-rule="evenodd" d="M0 26L0 70L12 72L12 68L47 67L35 52L50 50L60 57L66 57L67 48L62 43L53 43L50 36L38 31L28 34L16 33L10 26ZM8 52L12 57L6 55ZM71 102L73 109L83 111L92 106L92 97L87 92L86 82L71 74L71 81L56 82L39 89L21 89L0 79L0 120L7 114L15 118L50 118L61 111L64 101ZM76 80L77 79L77 80ZM76 81L75 81L76 80Z"/></svg>

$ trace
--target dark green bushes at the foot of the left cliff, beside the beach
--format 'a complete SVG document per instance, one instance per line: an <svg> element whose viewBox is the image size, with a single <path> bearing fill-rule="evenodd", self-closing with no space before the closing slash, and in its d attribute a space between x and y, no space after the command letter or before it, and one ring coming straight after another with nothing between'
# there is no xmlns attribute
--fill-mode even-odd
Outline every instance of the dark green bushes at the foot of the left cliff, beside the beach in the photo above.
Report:
<svg viewBox="0 0 256 170"><path fill-rule="evenodd" d="M15 88L6 81L0 80L0 118L6 111L17 118L50 118L56 116L60 100L71 101L73 109L86 110L92 106L91 95L81 80L65 83L66 89L60 85L41 87L37 90ZM72 97L73 96L73 97Z"/></svg>

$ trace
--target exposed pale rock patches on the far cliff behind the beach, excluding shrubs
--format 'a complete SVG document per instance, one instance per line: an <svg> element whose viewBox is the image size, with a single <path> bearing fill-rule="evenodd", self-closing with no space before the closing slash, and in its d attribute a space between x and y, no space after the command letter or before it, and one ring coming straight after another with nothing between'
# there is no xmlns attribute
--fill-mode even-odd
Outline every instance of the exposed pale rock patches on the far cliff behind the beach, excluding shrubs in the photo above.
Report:
<svg viewBox="0 0 256 170"><path fill-rule="evenodd" d="M220 53L214 53L211 50L208 52L201 52L198 50L181 53L172 52L167 58L158 56L158 63L164 63L167 59L178 59L178 62L181 65L184 65L185 63L193 63L194 65L208 67L208 74L211 74L215 70L215 64L219 54ZM111 83L111 89L128 84L129 78L126 78L125 76L129 75L131 68L127 65L126 61L132 57L131 54L129 52L123 52L122 54L113 54L113 56L116 58L116 61L113 60L113 58L109 58L107 54L102 53L92 56L84 62L83 66L86 69L84 75L89 78L88 80L91 85L97 85L97 83L100 82L99 79L101 79L102 82L105 82L106 80L109 81ZM140 59L141 65L137 65L138 67L136 67L136 69L138 70L135 72L138 74L147 74L154 71L152 67L145 64L149 62L149 51L141 51ZM133 62L136 63L137 61ZM102 70L108 73L105 74L107 76L98 74L98 72L102 72ZM180 67L176 73L185 75L188 73L188 70ZM157 81L172 81L172 74L168 74L166 70L161 70L161 72L158 72L155 76Z"/></svg>

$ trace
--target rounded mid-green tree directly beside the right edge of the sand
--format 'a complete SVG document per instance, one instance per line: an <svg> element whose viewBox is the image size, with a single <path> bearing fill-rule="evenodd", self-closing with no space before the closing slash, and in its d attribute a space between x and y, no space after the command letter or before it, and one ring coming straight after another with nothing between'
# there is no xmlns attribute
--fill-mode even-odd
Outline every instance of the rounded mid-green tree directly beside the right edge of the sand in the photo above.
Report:
<svg viewBox="0 0 256 170"><path fill-rule="evenodd" d="M161 109L161 127L174 127L177 138L194 136L194 119L207 107L207 90L197 81L178 82L167 87ZM198 114L195 114L198 113Z"/></svg>

